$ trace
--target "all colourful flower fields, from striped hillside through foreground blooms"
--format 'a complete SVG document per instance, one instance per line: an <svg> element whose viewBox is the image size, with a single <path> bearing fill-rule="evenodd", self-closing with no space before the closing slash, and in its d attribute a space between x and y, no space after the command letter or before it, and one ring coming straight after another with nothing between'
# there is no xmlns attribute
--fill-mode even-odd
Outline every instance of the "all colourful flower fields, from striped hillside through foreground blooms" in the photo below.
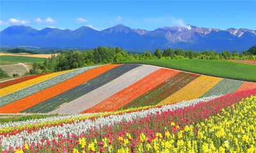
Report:
<svg viewBox="0 0 256 153"><path fill-rule="evenodd" d="M256 108L256 82L107 64L0 82L0 93L0 113L61 114L0 124L3 152L253 149L246 127L256 126L255 113L246 114Z"/></svg>

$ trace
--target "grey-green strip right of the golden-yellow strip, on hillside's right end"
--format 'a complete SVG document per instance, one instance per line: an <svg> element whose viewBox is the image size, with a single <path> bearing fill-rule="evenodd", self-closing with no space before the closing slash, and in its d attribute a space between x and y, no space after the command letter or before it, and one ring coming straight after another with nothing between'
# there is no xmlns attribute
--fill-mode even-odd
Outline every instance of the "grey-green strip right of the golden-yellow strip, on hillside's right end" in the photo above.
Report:
<svg viewBox="0 0 256 153"><path fill-rule="evenodd" d="M222 80L220 80L220 82L218 82L218 84L214 85L214 87L212 87L209 91L205 92L202 96L200 96L200 98L233 93L243 83L244 81L223 78Z"/></svg>

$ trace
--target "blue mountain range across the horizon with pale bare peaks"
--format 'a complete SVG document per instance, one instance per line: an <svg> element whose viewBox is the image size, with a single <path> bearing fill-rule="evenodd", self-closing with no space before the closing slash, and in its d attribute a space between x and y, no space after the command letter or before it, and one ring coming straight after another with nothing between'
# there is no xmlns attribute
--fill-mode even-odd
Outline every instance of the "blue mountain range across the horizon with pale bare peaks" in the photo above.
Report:
<svg viewBox="0 0 256 153"><path fill-rule="evenodd" d="M196 27L159 27L154 31L131 29L122 24L97 31L80 27L74 31L46 27L41 30L24 25L13 25L0 32L1 45L34 47L122 47L127 51L154 51L157 47L204 51L248 50L256 44L256 31L250 29L226 30Z"/></svg>

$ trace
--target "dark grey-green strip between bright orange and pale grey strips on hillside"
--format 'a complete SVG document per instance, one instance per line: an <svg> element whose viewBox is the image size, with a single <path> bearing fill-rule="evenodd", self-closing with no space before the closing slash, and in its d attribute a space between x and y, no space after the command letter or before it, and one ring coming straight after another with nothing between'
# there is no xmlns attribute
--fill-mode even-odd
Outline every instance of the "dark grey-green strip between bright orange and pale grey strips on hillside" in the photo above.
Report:
<svg viewBox="0 0 256 153"><path fill-rule="evenodd" d="M38 103L35 106L32 106L26 110L23 110L22 113L23 112L26 112L26 113L52 112L53 110L56 110L56 108L58 108L60 105L63 105L64 103L69 103L70 101L73 101L74 99L77 99L83 96L84 94L92 92L93 90L99 88L100 86L107 84L112 80L115 80L116 78L120 77L124 73L127 73L127 71L137 68L138 66L140 65L124 64L121 66L117 66L113 69L110 69L109 71L106 71L105 73L102 73L101 75L95 78L92 78L91 80L88 80L84 84L77 85L76 87L69 89L68 91L62 92L57 96L49 98L45 101L42 101L41 103Z"/></svg>

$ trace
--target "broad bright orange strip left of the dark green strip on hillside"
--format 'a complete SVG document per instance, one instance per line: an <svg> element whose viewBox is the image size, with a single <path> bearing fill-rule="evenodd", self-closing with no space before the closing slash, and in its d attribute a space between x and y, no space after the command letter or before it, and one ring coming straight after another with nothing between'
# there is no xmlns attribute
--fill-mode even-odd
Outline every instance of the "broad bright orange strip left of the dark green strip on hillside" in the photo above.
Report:
<svg viewBox="0 0 256 153"><path fill-rule="evenodd" d="M108 71L109 69L115 68L120 65L121 64L109 64L90 69L89 71L77 75L76 77L70 78L64 82L61 82L60 84L49 87L44 91L37 92L36 94L5 105L0 108L0 113L19 113L22 110L26 110L27 108L34 106L42 101L45 101L46 99L52 98L58 94L61 94L62 92L68 91L69 89L72 89L77 85L83 84L84 82L87 82L88 80L97 77L98 75Z"/></svg>

